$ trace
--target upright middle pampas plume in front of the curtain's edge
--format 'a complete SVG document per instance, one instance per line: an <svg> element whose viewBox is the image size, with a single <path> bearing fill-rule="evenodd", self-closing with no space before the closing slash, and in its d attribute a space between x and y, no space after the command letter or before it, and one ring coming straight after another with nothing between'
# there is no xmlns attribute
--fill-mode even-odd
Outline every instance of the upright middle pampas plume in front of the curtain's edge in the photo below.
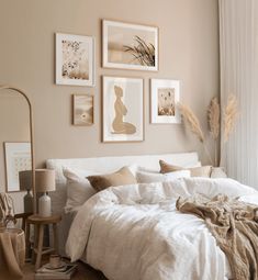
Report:
<svg viewBox="0 0 258 280"><path fill-rule="evenodd" d="M209 128L213 139L217 139L220 135L220 115L221 109L217 98L213 98L207 109Z"/></svg>

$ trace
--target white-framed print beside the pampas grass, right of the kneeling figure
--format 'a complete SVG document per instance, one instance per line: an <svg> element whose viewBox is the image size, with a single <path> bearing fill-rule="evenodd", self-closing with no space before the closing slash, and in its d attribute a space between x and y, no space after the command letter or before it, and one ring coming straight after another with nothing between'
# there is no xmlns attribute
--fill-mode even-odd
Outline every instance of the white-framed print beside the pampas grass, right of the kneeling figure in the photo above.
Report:
<svg viewBox="0 0 258 280"><path fill-rule="evenodd" d="M152 123L181 123L177 108L180 97L180 81L166 79L150 80Z"/></svg>

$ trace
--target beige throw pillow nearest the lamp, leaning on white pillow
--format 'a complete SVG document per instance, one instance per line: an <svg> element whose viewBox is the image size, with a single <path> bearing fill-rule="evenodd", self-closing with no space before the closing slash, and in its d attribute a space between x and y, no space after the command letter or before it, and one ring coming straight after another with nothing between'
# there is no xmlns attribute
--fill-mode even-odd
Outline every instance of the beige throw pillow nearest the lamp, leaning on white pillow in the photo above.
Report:
<svg viewBox="0 0 258 280"><path fill-rule="evenodd" d="M102 191L109 187L137 183L136 178L127 167L109 175L89 176L87 179L97 191Z"/></svg>

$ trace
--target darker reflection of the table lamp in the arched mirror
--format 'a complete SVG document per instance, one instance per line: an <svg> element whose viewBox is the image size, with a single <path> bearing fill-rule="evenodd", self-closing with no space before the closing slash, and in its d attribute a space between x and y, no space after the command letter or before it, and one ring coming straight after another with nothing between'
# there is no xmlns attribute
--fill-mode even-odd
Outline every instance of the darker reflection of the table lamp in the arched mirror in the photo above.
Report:
<svg viewBox="0 0 258 280"><path fill-rule="evenodd" d="M33 213L33 197L31 194L32 189L32 171L25 170L19 172L20 190L26 191L23 197L24 213Z"/></svg>

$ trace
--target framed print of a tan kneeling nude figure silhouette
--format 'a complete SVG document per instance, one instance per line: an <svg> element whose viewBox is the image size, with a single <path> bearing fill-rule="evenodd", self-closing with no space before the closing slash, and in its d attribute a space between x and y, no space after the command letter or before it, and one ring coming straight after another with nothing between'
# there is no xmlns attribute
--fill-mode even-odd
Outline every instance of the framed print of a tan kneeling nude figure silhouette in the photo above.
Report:
<svg viewBox="0 0 258 280"><path fill-rule="evenodd" d="M144 80L103 77L102 141L144 141Z"/></svg>

